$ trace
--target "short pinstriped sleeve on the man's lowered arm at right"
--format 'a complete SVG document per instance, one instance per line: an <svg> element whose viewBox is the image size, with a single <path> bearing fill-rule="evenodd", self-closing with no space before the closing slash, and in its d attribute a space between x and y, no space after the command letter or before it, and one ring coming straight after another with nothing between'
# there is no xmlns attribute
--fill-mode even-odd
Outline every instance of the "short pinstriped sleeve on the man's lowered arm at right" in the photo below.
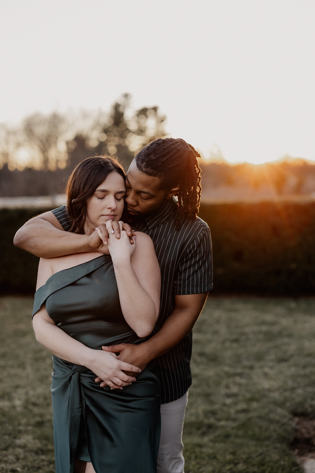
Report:
<svg viewBox="0 0 315 473"><path fill-rule="evenodd" d="M203 228L187 247L175 276L175 295L200 294L213 289L212 245L209 228Z"/></svg>

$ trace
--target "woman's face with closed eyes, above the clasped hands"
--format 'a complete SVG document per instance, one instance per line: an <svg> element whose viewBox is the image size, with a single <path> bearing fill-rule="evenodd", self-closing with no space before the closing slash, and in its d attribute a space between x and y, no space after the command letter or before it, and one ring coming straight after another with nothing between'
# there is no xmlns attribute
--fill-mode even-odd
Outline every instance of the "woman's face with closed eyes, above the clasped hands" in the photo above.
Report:
<svg viewBox="0 0 315 473"><path fill-rule="evenodd" d="M86 202L86 234L90 235L101 223L118 221L124 209L125 181L115 171L109 174Z"/></svg>

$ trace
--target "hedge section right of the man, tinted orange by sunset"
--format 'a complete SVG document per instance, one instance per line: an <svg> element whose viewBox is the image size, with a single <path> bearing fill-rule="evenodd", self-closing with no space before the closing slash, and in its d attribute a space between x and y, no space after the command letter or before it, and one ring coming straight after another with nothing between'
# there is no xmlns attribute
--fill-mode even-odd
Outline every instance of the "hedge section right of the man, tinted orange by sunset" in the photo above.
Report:
<svg viewBox="0 0 315 473"><path fill-rule="evenodd" d="M315 295L315 202L204 204L214 289Z"/></svg>

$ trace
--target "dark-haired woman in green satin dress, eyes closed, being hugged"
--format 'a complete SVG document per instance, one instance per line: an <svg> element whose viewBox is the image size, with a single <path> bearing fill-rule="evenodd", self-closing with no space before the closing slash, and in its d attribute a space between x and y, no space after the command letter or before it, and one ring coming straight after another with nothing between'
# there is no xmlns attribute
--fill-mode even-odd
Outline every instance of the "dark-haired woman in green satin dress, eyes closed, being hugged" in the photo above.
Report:
<svg viewBox="0 0 315 473"><path fill-rule="evenodd" d="M110 228L121 217L125 174L111 157L87 158L66 192L71 231L100 234L98 225ZM136 232L131 245L121 228L120 239L109 237L108 249L108 255L69 254L39 264L33 326L37 341L53 353L56 473L156 471L160 392L154 368L140 373L102 345L141 343L152 332L160 269L143 233ZM108 386L95 384L95 375Z"/></svg>

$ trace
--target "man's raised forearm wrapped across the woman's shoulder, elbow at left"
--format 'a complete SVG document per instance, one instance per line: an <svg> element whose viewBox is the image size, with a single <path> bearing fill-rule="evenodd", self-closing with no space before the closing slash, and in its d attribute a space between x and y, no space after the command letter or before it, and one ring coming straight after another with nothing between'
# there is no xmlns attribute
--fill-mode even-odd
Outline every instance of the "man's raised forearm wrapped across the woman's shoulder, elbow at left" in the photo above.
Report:
<svg viewBox="0 0 315 473"><path fill-rule="evenodd" d="M41 258L97 251L88 245L86 235L65 232L43 219L26 222L17 231L14 244Z"/></svg>

